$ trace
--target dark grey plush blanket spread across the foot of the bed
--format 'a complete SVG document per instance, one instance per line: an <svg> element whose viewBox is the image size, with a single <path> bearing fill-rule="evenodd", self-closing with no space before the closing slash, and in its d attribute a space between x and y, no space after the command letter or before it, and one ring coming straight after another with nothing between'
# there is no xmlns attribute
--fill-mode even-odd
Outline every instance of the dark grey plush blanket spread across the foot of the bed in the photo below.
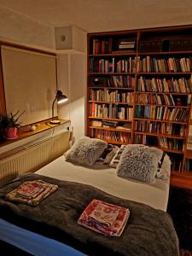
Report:
<svg viewBox="0 0 192 256"><path fill-rule="evenodd" d="M37 207L3 199L20 183L34 179L57 184L59 189ZM130 209L130 218L120 237L103 236L77 224L80 214L92 199ZM38 174L22 175L0 189L0 218L66 243L89 255L179 255L177 234L172 218L166 212L108 195L89 185Z"/></svg>

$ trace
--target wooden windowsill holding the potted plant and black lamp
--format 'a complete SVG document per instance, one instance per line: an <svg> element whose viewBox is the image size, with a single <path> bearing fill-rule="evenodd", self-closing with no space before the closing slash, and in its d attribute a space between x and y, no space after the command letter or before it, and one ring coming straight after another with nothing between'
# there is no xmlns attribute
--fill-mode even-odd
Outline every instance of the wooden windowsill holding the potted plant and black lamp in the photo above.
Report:
<svg viewBox="0 0 192 256"><path fill-rule="evenodd" d="M59 126L59 125L62 125L62 124L66 124L67 122L69 122L69 120L67 119L60 119L61 120L61 124L59 125L50 125L49 124L49 121L51 119L46 119L44 121L40 121L36 124L33 124L33 125L36 125L36 130L35 131L31 131L31 126L32 125L26 125L26 126L23 126L20 128L20 131L19 131L19 135L17 138L13 139L13 140L6 140L6 139L2 139L0 140L0 148L4 147L4 146L7 146L11 143L15 143L15 142L18 142L26 137L31 137L35 134L38 134L42 131L48 131L49 129L52 129L52 128L55 128L56 126Z"/></svg>

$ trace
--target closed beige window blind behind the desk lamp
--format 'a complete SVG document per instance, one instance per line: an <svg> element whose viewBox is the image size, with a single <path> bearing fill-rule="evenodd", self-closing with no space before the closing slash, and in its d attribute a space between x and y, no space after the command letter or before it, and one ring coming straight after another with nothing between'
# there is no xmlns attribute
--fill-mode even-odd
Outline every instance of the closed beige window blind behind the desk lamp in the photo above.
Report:
<svg viewBox="0 0 192 256"><path fill-rule="evenodd" d="M1 53L7 113L25 110L22 125L51 118L56 56L8 46L2 46Z"/></svg>

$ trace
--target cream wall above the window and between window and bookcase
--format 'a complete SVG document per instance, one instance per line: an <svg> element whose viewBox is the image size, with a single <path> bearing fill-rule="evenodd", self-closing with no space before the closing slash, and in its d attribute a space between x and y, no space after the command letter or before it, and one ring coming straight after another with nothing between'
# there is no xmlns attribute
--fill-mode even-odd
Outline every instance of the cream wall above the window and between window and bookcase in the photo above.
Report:
<svg viewBox="0 0 192 256"><path fill-rule="evenodd" d="M0 40L55 51L54 27L46 26L1 6L0 16ZM74 39L79 40L79 33L76 31ZM84 44L85 49L85 32L80 42ZM58 55L58 88L69 96L69 103L61 106L59 115L60 118L71 119L76 139L84 135L85 61L85 54L71 55L65 52Z"/></svg>

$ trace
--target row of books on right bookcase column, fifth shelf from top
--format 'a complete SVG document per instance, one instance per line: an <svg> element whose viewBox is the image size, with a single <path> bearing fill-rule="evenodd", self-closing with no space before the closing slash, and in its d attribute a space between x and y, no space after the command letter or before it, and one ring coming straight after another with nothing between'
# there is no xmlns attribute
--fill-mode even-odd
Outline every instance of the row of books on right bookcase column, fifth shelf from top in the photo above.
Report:
<svg viewBox="0 0 192 256"><path fill-rule="evenodd" d="M186 108L167 108L156 106L137 106L136 118L161 119L178 122L187 122L189 109Z"/></svg>

